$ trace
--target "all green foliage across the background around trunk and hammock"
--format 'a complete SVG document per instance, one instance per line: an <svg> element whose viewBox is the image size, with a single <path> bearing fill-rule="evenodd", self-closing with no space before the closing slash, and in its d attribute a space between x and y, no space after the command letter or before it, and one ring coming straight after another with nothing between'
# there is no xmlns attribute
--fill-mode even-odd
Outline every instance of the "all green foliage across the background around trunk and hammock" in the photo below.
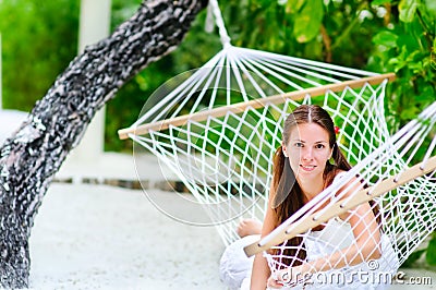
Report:
<svg viewBox="0 0 436 290"><path fill-rule="evenodd" d="M112 28L141 0L112 1ZM392 131L435 99L435 19L432 0L221 0L232 44L375 72L396 72L387 102ZM3 104L28 110L76 53L78 0L2 1ZM167 80L205 63L220 49L204 31L206 11L183 44L126 84L108 107L107 149L128 149L117 128L131 124ZM368 41L372 39L372 41ZM405 106L408 104L408 106Z"/></svg>

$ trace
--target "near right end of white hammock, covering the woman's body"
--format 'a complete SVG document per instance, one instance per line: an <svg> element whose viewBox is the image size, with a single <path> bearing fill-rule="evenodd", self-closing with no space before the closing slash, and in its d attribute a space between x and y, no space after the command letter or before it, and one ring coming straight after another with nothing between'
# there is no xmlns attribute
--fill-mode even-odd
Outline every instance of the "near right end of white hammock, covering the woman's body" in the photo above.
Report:
<svg viewBox="0 0 436 290"><path fill-rule="evenodd" d="M420 243L436 228L436 101L426 108L416 120L403 126L392 137L382 144L377 149L366 156L338 182L334 182L325 191L308 202L304 207L292 215L288 220L276 228L270 234L259 242L245 247L247 255L261 251L265 252L272 273L281 273L289 264L307 262L296 255L287 254L287 250L306 251L310 255L323 255L323 263L313 267L315 273L319 268L330 269L324 276L317 276L313 282L331 282L331 277L342 277L342 282L350 280L356 271L382 271L383 275L373 275L374 282L390 283L391 275L420 245ZM424 148L424 154L417 156L419 149ZM355 190L358 180L349 184L359 176L371 186ZM340 194L338 190L342 189ZM347 196L347 197L346 197ZM379 207L376 218L380 218L378 229L383 237L379 241L382 256L367 264L358 264L347 268L341 267L339 276L331 274L331 269L339 267L339 262L331 262L332 253L353 244L354 237L350 237L353 228L349 218L338 220L343 213L359 215L356 206L368 201L375 201L374 206ZM323 204L328 203L323 207ZM360 216L363 218L363 216ZM312 229L324 225L324 230L317 232ZM348 232L347 232L348 231ZM294 237L304 242L300 245L290 245L288 241ZM351 240L351 241L350 241ZM371 242L368 238L365 242ZM318 249L313 249L318 243ZM319 243L323 245L319 246ZM374 249L375 251L375 249ZM312 253L311 253L312 252ZM289 252L288 252L289 253ZM343 258L347 251L342 252ZM362 253L348 256L351 261ZM310 261L310 258L308 258ZM294 264L295 265L295 264ZM282 273L281 273L282 274ZM336 274L338 275L338 274ZM313 278L313 277L312 277ZM376 280L378 278L378 280ZM330 279L330 280L329 280ZM380 280L382 279L382 280ZM338 280L335 280L338 282ZM295 282L295 281L293 281ZM301 282L305 282L302 280ZM322 286L319 285L319 286Z"/></svg>

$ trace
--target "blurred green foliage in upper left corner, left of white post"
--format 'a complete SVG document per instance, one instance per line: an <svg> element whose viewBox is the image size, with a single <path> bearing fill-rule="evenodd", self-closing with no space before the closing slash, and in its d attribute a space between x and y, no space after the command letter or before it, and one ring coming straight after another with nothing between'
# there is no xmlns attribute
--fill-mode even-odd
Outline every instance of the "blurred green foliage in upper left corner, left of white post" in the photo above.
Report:
<svg viewBox="0 0 436 290"><path fill-rule="evenodd" d="M4 108L31 110L76 55L78 2L1 1Z"/></svg>

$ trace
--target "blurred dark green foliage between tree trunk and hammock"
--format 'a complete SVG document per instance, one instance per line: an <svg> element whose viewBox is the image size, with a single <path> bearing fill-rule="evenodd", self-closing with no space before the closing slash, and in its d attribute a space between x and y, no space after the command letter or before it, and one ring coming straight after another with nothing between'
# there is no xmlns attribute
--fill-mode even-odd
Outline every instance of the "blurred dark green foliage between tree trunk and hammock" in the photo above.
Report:
<svg viewBox="0 0 436 290"><path fill-rule="evenodd" d="M112 27L133 15L140 3L141 0L113 1ZM105 128L107 150L131 150L132 144L119 140L117 131L137 120L141 109L159 86L183 72L199 68L219 51L219 37L205 32L205 19L206 13L202 13L175 51L148 65L118 92L117 98L108 102Z"/></svg>

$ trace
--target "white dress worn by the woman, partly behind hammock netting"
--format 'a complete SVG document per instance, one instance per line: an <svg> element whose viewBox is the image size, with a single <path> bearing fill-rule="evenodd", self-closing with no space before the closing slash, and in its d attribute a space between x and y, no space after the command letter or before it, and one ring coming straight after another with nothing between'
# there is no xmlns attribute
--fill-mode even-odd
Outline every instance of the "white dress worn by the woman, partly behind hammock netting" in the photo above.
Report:
<svg viewBox="0 0 436 290"><path fill-rule="evenodd" d="M337 181L341 173L335 178ZM229 289L250 289L253 257L247 258L243 247L257 241L259 235L249 235L230 244L220 261L220 278ZM325 257L339 249L355 243L351 225L335 217L319 231L310 230L304 235L304 246L308 262ZM304 287L282 289L386 289L399 268L398 256L386 234L382 234L382 256L368 263L319 271ZM266 256L269 258L268 256ZM328 280L330 279L330 280ZM336 280L331 280L336 279Z"/></svg>

